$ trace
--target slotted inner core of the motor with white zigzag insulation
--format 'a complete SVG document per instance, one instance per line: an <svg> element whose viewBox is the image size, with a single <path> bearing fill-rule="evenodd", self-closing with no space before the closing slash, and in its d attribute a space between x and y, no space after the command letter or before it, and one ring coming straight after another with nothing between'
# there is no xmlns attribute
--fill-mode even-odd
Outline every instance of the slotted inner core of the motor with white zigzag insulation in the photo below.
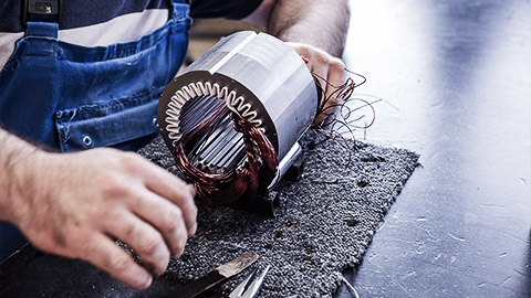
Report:
<svg viewBox="0 0 531 298"><path fill-rule="evenodd" d="M235 91L217 83L190 83L171 96L166 109L166 130L174 147L184 134L220 105L227 105L230 110L264 131L258 113ZM222 173L235 164L241 169L247 160L243 135L235 130L230 114L225 115L212 134L201 136L187 156L191 164L208 173Z"/></svg>

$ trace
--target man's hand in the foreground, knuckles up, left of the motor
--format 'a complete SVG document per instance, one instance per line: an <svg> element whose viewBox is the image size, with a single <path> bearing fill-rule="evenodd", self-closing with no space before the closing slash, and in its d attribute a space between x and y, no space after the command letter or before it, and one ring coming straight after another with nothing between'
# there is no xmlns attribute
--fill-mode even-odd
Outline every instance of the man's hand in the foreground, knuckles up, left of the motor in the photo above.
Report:
<svg viewBox="0 0 531 298"><path fill-rule="evenodd" d="M163 274L169 257L180 256L196 231L195 189L138 155L33 149L11 152L13 160L6 157L0 155L0 167L9 177L0 174L0 184L7 193L0 196L8 201L1 199L0 216L37 247L87 260L135 288L147 288L152 274ZM135 249L145 267L115 238Z"/></svg>

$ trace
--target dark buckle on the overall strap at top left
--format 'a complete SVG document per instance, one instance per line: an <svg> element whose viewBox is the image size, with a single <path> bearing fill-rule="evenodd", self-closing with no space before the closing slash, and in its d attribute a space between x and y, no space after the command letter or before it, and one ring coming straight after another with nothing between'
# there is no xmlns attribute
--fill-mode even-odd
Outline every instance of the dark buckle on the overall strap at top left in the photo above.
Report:
<svg viewBox="0 0 531 298"><path fill-rule="evenodd" d="M28 21L58 22L61 19L61 0L22 0L22 24Z"/></svg>

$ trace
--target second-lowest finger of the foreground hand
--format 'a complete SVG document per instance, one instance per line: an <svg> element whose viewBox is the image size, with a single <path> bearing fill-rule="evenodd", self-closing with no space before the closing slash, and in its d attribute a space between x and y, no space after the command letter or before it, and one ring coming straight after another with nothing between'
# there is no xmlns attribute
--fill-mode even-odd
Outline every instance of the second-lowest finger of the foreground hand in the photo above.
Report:
<svg viewBox="0 0 531 298"><path fill-rule="evenodd" d="M166 270L170 252L160 233L153 226L124 211L113 216L112 223L103 228L107 234L127 243L154 275L159 276Z"/></svg>

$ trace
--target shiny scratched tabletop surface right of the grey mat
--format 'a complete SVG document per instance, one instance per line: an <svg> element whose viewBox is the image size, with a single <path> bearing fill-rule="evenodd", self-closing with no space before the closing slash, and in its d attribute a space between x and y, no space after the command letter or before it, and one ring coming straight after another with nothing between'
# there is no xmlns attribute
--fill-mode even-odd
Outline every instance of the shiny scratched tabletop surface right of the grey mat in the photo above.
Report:
<svg viewBox="0 0 531 298"><path fill-rule="evenodd" d="M424 168L347 279L361 297L531 297L530 1L352 3L358 92L398 108L378 104L367 139Z"/></svg>

